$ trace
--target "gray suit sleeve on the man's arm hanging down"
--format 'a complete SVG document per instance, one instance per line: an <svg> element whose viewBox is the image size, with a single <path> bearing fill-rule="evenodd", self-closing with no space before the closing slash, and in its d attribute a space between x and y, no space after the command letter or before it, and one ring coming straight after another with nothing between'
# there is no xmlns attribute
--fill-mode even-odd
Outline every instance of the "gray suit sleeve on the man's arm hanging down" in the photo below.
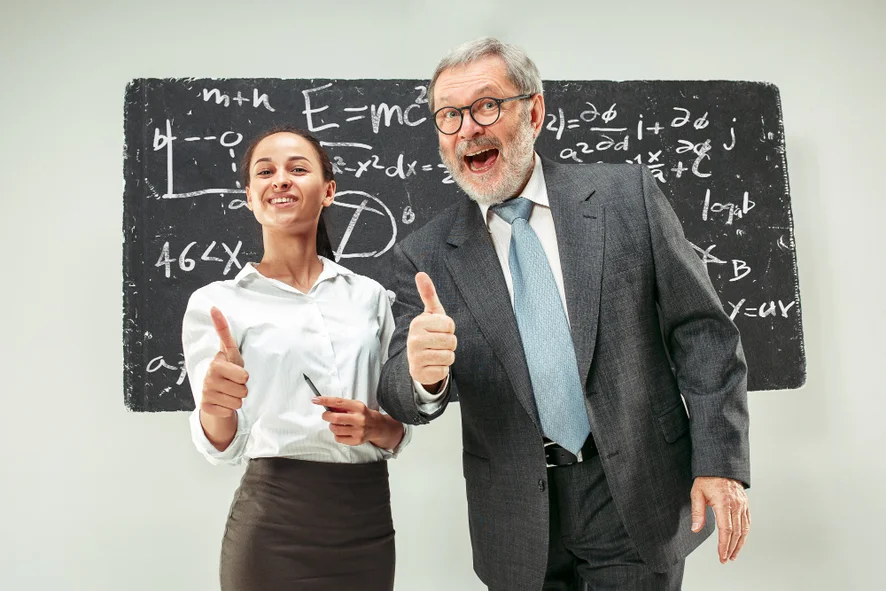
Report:
<svg viewBox="0 0 886 591"><path fill-rule="evenodd" d="M747 364L738 329L645 167L642 182L662 332L689 410L692 475L748 487Z"/></svg>

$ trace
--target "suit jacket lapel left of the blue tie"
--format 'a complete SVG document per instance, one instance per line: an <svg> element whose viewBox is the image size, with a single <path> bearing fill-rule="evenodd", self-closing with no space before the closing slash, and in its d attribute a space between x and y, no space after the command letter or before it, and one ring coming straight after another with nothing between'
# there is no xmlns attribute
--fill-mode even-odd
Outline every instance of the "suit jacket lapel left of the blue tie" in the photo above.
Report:
<svg viewBox="0 0 886 591"><path fill-rule="evenodd" d="M480 208L464 199L447 242L446 266L480 331L501 361L520 403L541 432L517 319ZM456 326L456 335L458 327Z"/></svg>

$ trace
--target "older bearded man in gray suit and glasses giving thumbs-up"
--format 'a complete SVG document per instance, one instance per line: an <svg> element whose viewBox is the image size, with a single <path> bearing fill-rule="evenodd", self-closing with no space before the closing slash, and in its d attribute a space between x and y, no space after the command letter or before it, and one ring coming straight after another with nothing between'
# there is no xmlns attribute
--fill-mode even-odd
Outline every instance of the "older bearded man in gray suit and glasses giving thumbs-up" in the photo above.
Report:
<svg viewBox="0 0 886 591"><path fill-rule="evenodd" d="M421 424L458 392L478 576L502 591L679 589L714 517L719 559L735 559L750 527L744 355L655 180L537 155L541 77L514 46L454 49L429 97L467 197L395 248L379 400Z"/></svg>

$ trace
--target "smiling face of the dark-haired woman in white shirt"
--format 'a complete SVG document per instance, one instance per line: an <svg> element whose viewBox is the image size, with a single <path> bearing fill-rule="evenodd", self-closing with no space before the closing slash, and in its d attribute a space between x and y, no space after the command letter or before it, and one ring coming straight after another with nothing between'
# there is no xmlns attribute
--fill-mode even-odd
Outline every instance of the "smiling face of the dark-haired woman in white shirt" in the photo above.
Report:
<svg viewBox="0 0 886 591"><path fill-rule="evenodd" d="M262 227L296 232L316 230L332 204L335 181L323 179L314 147L294 133L275 133L255 147L249 163L246 206Z"/></svg>

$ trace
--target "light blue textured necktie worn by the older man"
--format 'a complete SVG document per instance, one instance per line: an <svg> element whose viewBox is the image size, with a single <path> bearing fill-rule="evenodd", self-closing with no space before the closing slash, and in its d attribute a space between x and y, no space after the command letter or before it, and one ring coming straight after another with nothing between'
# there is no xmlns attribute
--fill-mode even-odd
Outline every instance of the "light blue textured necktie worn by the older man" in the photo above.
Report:
<svg viewBox="0 0 886 591"><path fill-rule="evenodd" d="M591 428L560 292L541 242L529 225L532 202L516 197L492 211L511 224L508 261L514 312L542 431L578 455Z"/></svg>

